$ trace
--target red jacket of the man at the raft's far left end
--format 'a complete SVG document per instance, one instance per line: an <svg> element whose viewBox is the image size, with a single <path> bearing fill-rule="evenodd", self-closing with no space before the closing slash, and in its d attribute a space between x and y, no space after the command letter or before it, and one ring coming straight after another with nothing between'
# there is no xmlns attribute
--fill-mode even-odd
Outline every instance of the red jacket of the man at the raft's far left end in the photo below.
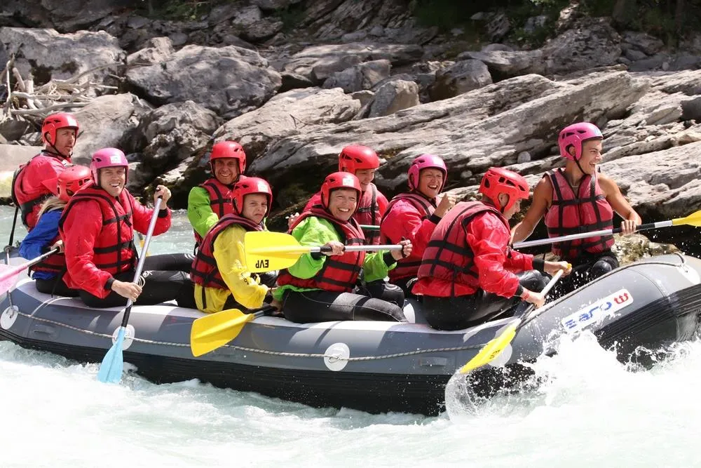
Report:
<svg viewBox="0 0 701 468"><path fill-rule="evenodd" d="M12 182L13 200L20 207L22 224L34 229L41 203L57 195L58 175L71 163L70 158L46 150L20 166Z"/></svg>

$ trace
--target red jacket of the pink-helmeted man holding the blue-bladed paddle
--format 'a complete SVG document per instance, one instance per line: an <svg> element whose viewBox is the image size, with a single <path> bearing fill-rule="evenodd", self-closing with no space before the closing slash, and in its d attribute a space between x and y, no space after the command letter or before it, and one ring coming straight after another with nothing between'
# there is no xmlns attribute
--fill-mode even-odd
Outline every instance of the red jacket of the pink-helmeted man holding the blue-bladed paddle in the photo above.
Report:
<svg viewBox="0 0 701 468"><path fill-rule="evenodd" d="M146 234L153 213L153 208L136 201L127 189L118 199L92 184L79 190L64 208L59 222L68 267L63 277L66 285L107 297L107 281L114 274L135 267L134 229ZM154 236L168 228L170 210L161 210Z"/></svg>

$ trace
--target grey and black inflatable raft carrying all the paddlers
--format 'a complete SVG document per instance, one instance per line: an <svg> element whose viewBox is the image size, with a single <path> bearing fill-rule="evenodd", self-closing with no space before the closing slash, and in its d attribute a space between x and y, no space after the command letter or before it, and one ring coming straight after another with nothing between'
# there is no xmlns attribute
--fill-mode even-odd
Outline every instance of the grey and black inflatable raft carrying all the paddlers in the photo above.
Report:
<svg viewBox="0 0 701 468"><path fill-rule="evenodd" d="M154 382L196 378L315 407L435 415L443 408L451 375L509 320L437 331L423 323L420 307L414 300L404 307L414 323L298 324L262 316L229 344L193 357L191 325L203 314L171 304L137 306L123 356ZM29 279L18 283L0 310L1 339L94 363L111 347L123 314L123 309L94 310L76 299L38 293ZM615 345L623 360L640 347L689 340L701 313L701 260L664 255L620 267L541 310L499 362L475 372L503 375L503 368L523 368L519 361L536 359L552 337L582 330L592 331L603 347ZM507 383L473 380L487 386Z"/></svg>

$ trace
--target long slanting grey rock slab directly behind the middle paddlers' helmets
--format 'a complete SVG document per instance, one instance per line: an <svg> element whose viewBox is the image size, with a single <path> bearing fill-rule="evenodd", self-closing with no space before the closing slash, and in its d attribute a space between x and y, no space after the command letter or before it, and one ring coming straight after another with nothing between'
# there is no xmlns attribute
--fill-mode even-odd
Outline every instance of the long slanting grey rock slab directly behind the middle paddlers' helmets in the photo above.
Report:
<svg viewBox="0 0 701 468"><path fill-rule="evenodd" d="M392 156L378 177L390 191L406 181L411 159L423 152L444 157L451 168L449 183L475 182L490 166L515 163L520 152L533 159L549 155L559 129L583 114L594 121L620 118L647 86L625 72L576 84L519 76L398 114L335 125L333 131L323 125L306 127L301 135L271 142L251 170L276 183L290 171L331 168L328 161L343 145L362 141L381 156Z"/></svg>

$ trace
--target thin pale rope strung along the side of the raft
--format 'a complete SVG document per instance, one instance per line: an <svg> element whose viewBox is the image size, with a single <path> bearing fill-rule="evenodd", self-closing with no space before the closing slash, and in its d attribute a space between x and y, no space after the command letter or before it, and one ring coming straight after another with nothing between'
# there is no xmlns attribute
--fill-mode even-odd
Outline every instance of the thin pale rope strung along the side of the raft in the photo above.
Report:
<svg viewBox="0 0 701 468"><path fill-rule="evenodd" d="M681 263L672 263L672 262L659 262L659 261L653 261L653 262L645 262L648 265L665 265L667 267L682 267L683 265L686 265L686 261L683 258L683 255L681 253L674 252L674 254L679 255L679 258L681 259ZM618 268L616 271L620 269L625 269L632 267L635 264L629 264L629 265L624 265L620 268ZM590 283L594 283L597 281L601 281L602 279L605 279L606 276L611 275L613 272L604 274L603 276L599 276L599 278L594 279L594 281L590 281ZM564 297L567 297L573 293L570 293ZM78 328L76 326L68 325L67 323L62 323L62 322L57 322L53 321L50 319L43 319L41 317L36 317L34 314L36 312L39 312L39 309L44 307L45 305L50 305L53 302L56 302L57 300L64 299L64 297L55 297L53 299L50 299L46 302L42 302L40 305L32 311L32 314L25 314L24 312L20 311L15 311L15 314L21 315L23 317L26 317L27 319L32 319L40 322L45 322L45 323L51 323L53 325L57 326L62 326L64 328L69 328L70 330L75 330L81 333L85 333L86 335L91 335L91 336L98 336L98 337L104 337L107 338L108 340L112 340L112 335L107 335L107 333L97 333L94 331L90 330L84 330L83 328ZM146 343L147 345L168 345L168 346L175 346L175 347L190 347L189 343L174 343L174 342L166 342L166 341L156 341L156 340L144 340L144 338L137 338L137 337L128 337L128 339L139 342L139 343ZM257 349L257 348L248 348L248 347L243 347L243 346L236 346L236 345L224 345L223 347L229 348L229 349L235 349L237 351L243 351L243 352L253 352L253 353L258 353L258 354L271 354L273 356L284 356L284 357L301 357L301 358L327 358L327 359L335 359L336 361L348 361L348 362L354 362L354 361L376 361L380 359L392 359L392 358L397 358L397 357L403 357L403 356L415 356L416 354L426 354L426 353L437 353L437 352L453 352L453 351L465 351L467 349L479 349L484 347L484 343L480 343L479 345L470 345L470 346L458 346L458 347L449 347L449 348L432 348L432 349L416 349L415 351L408 351L408 352L402 352L402 353L393 353L393 354L383 354L381 356L359 356L359 357L343 357L343 356L338 356L336 354L312 354L312 353L289 353L289 352L281 352L281 351L270 351L268 349Z"/></svg>

